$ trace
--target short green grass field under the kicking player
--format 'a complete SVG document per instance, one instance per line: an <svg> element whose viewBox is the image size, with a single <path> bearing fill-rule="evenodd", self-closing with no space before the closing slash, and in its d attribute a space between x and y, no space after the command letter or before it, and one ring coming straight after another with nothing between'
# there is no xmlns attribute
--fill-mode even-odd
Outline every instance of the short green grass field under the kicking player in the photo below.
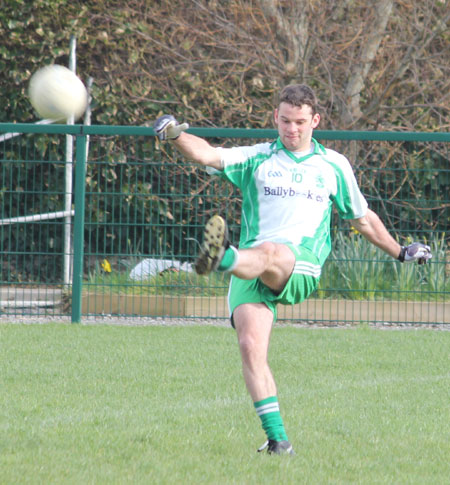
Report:
<svg viewBox="0 0 450 485"><path fill-rule="evenodd" d="M276 327L295 457L265 440L232 329L0 325L0 483L449 484L450 332Z"/></svg>

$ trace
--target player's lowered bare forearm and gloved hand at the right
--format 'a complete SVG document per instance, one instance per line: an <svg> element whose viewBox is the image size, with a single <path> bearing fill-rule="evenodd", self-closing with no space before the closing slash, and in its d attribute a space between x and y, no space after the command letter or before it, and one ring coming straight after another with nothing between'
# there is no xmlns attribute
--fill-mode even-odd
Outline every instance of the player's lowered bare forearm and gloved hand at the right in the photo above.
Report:
<svg viewBox="0 0 450 485"><path fill-rule="evenodd" d="M423 264L432 257L429 246L425 244L412 243L409 246L401 246L389 234L377 214L370 209L367 209L364 217L353 219L351 222L368 241L401 262L418 261L419 264Z"/></svg>

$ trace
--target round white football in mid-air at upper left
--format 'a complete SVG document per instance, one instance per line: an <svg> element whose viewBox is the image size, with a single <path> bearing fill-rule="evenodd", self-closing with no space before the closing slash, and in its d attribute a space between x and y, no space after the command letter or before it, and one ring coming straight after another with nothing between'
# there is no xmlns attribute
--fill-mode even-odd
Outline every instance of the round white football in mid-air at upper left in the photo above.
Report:
<svg viewBox="0 0 450 485"><path fill-rule="evenodd" d="M39 116L55 121L78 119L86 110L88 93L81 79L58 64L43 67L30 79L31 104Z"/></svg>

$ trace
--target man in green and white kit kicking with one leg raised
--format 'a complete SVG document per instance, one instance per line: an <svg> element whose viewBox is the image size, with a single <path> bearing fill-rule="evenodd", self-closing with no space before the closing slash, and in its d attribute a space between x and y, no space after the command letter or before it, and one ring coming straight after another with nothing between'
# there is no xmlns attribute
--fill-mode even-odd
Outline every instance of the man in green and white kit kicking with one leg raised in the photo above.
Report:
<svg viewBox="0 0 450 485"><path fill-rule="evenodd" d="M305 300L317 288L331 251L334 205L371 243L400 261L426 263L430 248L402 247L368 208L349 161L313 138L320 122L312 89L295 84L280 93L274 111L278 138L234 148L213 147L186 133L187 123L171 115L158 118L154 130L171 140L188 159L208 167L242 192L239 249L228 241L219 215L206 224L195 262L198 274L228 271L231 323L236 329L245 384L261 419L271 454L293 454L268 364L269 340L277 304Z"/></svg>

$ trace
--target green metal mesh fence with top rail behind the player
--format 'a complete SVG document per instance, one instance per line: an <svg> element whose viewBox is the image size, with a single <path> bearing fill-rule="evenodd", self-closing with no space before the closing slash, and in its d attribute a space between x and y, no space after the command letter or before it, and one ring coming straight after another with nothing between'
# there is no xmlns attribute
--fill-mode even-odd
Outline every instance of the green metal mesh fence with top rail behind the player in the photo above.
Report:
<svg viewBox="0 0 450 485"><path fill-rule="evenodd" d="M0 313L127 318L228 316L228 276L191 263L213 213L237 243L240 194L159 144L151 128L0 124ZM274 130L191 129L223 146ZM76 159L65 161L67 135ZM333 217L334 251L319 289L280 307L308 323L450 323L450 134L327 132L369 205L401 243L432 246L426 266L401 265ZM73 188L67 177L73 175ZM67 206L67 200L71 205ZM69 234L69 238L67 238Z"/></svg>

